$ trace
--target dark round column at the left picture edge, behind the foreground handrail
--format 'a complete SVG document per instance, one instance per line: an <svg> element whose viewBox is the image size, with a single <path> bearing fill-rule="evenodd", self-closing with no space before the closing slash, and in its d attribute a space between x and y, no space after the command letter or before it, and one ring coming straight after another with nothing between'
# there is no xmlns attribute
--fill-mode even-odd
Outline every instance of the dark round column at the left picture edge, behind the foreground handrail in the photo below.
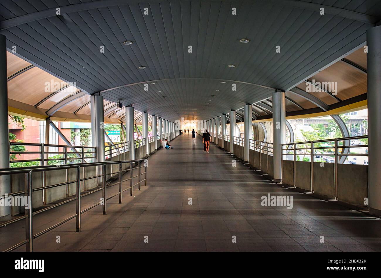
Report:
<svg viewBox="0 0 381 278"><path fill-rule="evenodd" d="M8 134L8 84L6 66L6 38L0 34L0 168L10 167ZM0 196L11 193L9 175L0 176ZM0 222L11 220L11 207L0 207Z"/></svg>

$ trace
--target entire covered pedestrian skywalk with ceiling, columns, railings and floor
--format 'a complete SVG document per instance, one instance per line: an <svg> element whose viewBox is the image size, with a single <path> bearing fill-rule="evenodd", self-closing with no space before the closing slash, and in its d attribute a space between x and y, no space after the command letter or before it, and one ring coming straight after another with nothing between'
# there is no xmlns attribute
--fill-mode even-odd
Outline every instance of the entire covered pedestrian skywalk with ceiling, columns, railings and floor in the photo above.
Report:
<svg viewBox="0 0 381 278"><path fill-rule="evenodd" d="M380 24L379 0L0 0L0 250L381 251ZM296 141L323 116L340 136Z"/></svg>

